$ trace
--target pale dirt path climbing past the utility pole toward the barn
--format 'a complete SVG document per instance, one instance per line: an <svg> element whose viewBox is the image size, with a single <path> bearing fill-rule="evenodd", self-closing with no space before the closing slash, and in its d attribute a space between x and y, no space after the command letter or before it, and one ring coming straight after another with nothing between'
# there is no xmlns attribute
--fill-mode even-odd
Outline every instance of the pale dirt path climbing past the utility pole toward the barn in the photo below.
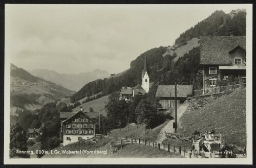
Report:
<svg viewBox="0 0 256 168"><path fill-rule="evenodd" d="M186 111L188 106L188 103L183 103L180 106L177 107L177 123L178 125L180 124L179 120L180 117L182 116L182 114ZM174 132L175 129L173 128L173 123L174 123L174 119L171 120L164 128L161 129L160 133L158 134L157 137L157 142L158 143L162 143L162 141L165 139L165 131L166 132Z"/></svg>

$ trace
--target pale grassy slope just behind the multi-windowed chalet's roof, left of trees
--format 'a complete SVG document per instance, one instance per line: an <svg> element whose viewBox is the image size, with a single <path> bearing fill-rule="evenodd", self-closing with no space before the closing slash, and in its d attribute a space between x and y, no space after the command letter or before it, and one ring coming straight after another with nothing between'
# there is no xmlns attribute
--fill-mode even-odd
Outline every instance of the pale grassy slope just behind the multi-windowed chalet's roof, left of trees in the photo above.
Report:
<svg viewBox="0 0 256 168"><path fill-rule="evenodd" d="M105 104L109 101L109 95L106 95L102 98L93 100L91 102L84 103L76 108L73 109L73 111L78 111L80 107L82 106L84 108L84 111L89 111L89 108L92 107L94 111L100 111L105 108ZM100 112L103 116L106 116L105 109Z"/></svg>

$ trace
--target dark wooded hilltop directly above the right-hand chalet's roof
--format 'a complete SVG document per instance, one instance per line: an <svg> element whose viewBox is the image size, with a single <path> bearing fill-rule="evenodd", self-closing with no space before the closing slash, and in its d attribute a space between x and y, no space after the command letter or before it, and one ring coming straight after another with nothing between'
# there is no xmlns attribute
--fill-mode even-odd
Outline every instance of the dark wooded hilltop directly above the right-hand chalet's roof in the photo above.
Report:
<svg viewBox="0 0 256 168"><path fill-rule="evenodd" d="M234 36L246 35L245 10L233 10L228 14L217 10L194 27L181 33L175 40L175 45L183 45L186 41L200 36L229 36L229 30L233 30Z"/></svg>

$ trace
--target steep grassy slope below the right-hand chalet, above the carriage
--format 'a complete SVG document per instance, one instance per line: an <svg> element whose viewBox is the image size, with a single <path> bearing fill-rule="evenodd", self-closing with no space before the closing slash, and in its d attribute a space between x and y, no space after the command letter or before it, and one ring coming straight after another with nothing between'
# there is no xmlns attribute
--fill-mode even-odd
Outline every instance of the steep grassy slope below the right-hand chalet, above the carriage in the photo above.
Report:
<svg viewBox="0 0 256 168"><path fill-rule="evenodd" d="M240 147L246 146L246 89L223 95L196 111L186 111L181 116L178 131L185 136L195 130L215 130L222 141Z"/></svg>

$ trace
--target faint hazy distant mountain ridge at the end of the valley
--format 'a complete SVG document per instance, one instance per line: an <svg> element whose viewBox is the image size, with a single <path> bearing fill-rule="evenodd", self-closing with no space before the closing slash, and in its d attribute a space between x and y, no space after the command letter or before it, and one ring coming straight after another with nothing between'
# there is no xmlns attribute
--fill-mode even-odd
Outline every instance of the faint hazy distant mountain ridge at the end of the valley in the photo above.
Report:
<svg viewBox="0 0 256 168"><path fill-rule="evenodd" d="M49 69L33 69L28 71L36 77L54 82L75 91L78 91L82 86L91 81L110 77L107 71L100 69L80 74L59 74L55 70Z"/></svg>

